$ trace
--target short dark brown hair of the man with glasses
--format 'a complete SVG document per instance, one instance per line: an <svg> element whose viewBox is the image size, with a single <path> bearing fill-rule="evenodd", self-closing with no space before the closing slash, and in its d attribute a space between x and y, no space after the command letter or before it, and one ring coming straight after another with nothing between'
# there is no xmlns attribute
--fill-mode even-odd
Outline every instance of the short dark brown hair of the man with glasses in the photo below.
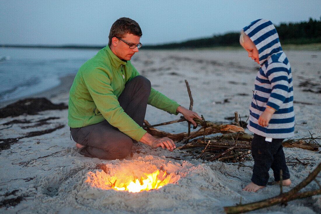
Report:
<svg viewBox="0 0 321 214"><path fill-rule="evenodd" d="M111 39L113 37L122 38L126 33L130 33L139 37L143 35L142 30L136 21L126 17L119 18L110 28L108 45L111 45Z"/></svg>

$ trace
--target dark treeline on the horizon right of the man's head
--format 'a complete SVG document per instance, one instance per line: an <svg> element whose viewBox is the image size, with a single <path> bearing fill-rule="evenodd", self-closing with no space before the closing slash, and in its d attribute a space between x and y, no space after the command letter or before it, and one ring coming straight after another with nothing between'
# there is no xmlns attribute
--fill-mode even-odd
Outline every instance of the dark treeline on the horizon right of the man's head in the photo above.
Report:
<svg viewBox="0 0 321 214"><path fill-rule="evenodd" d="M321 42L320 20L302 21L299 23L281 23L275 25L281 44L311 44ZM230 32L224 35L192 39L184 42L168 43L162 45L143 45L144 49L170 49L170 48L195 48L195 47L221 47L239 46L239 32Z"/></svg>

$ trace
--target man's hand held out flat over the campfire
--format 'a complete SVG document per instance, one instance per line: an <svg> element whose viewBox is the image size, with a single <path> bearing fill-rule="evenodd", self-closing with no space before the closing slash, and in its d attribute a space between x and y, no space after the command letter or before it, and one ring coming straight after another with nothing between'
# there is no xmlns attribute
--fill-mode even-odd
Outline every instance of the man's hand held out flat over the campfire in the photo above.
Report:
<svg viewBox="0 0 321 214"><path fill-rule="evenodd" d="M166 148L169 151L173 151L174 149L176 149L174 141L172 141L168 137L154 138L147 132L143 135L142 139L140 139L140 142L151 146L153 149L156 149L157 147L161 147L163 149Z"/></svg>

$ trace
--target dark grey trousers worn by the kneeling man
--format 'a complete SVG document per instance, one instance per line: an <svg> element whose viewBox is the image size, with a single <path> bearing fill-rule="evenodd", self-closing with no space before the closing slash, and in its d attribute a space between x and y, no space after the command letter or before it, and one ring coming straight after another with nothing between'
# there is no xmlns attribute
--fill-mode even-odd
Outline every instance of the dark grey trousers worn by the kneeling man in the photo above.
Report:
<svg viewBox="0 0 321 214"><path fill-rule="evenodd" d="M150 93L151 82L143 76L136 76L126 83L118 98L126 114L140 126L143 126ZM78 152L91 158L125 158L131 152L133 142L137 142L109 124L107 120L80 128L70 128L70 132L74 141L84 146Z"/></svg>

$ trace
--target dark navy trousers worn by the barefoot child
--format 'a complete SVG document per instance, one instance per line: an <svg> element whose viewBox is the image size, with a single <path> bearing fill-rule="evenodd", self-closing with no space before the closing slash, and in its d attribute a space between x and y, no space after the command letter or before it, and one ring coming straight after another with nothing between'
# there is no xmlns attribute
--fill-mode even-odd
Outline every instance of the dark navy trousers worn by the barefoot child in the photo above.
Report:
<svg viewBox="0 0 321 214"><path fill-rule="evenodd" d="M273 139L272 142L265 141L265 137L254 134L251 148L254 159L253 175L251 181L259 186L266 186L269 180L269 169L272 168L274 180L280 180L280 169L282 179L289 179L290 173L286 166L282 141L284 139Z"/></svg>

